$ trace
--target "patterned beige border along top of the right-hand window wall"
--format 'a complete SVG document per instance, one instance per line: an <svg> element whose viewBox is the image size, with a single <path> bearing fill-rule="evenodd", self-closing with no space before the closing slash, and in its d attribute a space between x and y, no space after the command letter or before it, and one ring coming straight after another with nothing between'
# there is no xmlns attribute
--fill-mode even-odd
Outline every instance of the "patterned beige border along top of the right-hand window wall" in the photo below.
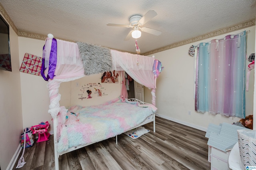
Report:
<svg viewBox="0 0 256 170"><path fill-rule="evenodd" d="M252 20L248 20L246 22L240 23L240 24L236 24L234 26L229 26L227 28L222 28L220 30L213 31L213 32L207 33L205 35L198 36L196 38L191 38L191 39L188 39L188 40L184 40L184 41L181 41L181 42L177 42L177 43L167 45L165 47L154 49L152 51L148 51L146 53L143 53L142 55L150 55L150 54L158 53L158 52L161 52L161 51L165 51L167 49L172 49L172 48L175 48L175 47L179 47L179 46L182 46L182 45L186 45L188 43L198 42L198 41L201 41L201 40L204 40L204 39L207 39L207 38L216 37L216 36L219 36L219 35L222 35L222 34L226 34L226 33L229 33L229 32L234 32L236 30L241 30L241 29L251 27L251 26L255 26L255 18L252 19Z"/></svg>

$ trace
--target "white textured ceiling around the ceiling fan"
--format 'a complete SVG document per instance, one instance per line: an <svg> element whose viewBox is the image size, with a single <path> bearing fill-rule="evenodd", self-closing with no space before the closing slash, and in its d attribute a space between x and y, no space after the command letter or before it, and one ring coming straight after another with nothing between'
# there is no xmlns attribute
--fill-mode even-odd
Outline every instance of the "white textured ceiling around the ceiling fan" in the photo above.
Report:
<svg viewBox="0 0 256 170"><path fill-rule="evenodd" d="M106 26L129 24L134 14L157 12L143 26L162 31L160 36L142 32L141 53L198 37L220 28L255 20L255 0L0 0L18 31L87 42L135 52L135 39L124 41L132 28Z"/></svg>

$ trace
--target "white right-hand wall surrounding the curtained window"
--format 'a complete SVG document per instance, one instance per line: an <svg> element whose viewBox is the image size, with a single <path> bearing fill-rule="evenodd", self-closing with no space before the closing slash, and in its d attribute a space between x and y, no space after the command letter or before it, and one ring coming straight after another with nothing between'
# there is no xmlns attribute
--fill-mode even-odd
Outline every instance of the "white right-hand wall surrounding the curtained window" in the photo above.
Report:
<svg viewBox="0 0 256 170"><path fill-rule="evenodd" d="M200 42L209 42L213 39L223 38L226 35L238 34L244 30L250 30L247 36L247 54L249 56L250 53L255 52L255 26ZM188 49L191 45L197 45L200 42L168 49L152 55L155 55L156 59L159 59L164 66L164 70L158 77L156 85L157 114L166 119L206 131L209 123L216 125L223 122L233 123L239 121L240 118L227 118L221 115L197 113L194 111L194 57L188 55ZM246 64L248 65L249 63L247 61ZM253 93L254 73L252 72L250 75L249 92L246 92L246 115L253 114ZM150 103L150 91L146 88L145 98L145 101ZM191 115L188 115L189 111Z"/></svg>

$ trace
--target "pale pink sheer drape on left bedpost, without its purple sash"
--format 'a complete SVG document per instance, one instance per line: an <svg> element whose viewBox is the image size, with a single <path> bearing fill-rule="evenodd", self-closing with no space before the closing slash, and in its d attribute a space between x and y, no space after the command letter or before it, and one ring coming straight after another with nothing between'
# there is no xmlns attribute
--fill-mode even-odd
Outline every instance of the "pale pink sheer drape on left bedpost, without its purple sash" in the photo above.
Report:
<svg viewBox="0 0 256 170"><path fill-rule="evenodd" d="M52 39L47 38L43 53L45 53L45 65L48 68ZM58 89L61 82L72 81L84 76L83 63L80 58L77 43L57 39L57 65L54 79L49 79L48 90L50 105L48 112L56 117L60 111L60 94Z"/></svg>

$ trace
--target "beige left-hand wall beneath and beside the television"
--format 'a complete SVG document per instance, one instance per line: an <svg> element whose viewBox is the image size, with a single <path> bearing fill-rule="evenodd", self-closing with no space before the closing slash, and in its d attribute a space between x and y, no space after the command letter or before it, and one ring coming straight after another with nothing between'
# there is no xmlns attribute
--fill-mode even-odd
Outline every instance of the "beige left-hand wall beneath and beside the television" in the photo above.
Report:
<svg viewBox="0 0 256 170"><path fill-rule="evenodd" d="M12 72L0 70L0 166L2 170L5 170L12 160L19 146L23 129L18 36L10 24L9 28Z"/></svg>

